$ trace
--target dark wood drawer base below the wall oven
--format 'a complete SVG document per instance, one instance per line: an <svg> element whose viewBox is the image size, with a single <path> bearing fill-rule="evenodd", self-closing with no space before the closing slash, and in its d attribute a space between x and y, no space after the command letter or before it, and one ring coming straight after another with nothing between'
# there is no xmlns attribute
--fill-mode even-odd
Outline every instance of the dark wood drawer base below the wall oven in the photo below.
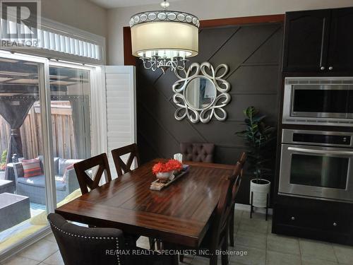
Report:
<svg viewBox="0 0 353 265"><path fill-rule="evenodd" d="M352 212L352 206L311 199L290 200L289 204L275 203L273 232L353 245L353 217L347 214Z"/></svg>

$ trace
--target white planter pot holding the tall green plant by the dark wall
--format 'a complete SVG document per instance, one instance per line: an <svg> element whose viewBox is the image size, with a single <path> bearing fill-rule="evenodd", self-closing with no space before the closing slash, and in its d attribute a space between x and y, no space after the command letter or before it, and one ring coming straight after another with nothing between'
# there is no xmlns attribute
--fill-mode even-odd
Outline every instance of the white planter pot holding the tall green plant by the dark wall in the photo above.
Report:
<svg viewBox="0 0 353 265"><path fill-rule="evenodd" d="M259 183L256 183L258 181ZM268 194L268 199L270 200L270 187L271 182L267 179L251 179L250 182L250 202L251 202L251 192L253 192L253 206L259 208L266 207L266 199ZM270 204L270 201L268 201Z"/></svg>

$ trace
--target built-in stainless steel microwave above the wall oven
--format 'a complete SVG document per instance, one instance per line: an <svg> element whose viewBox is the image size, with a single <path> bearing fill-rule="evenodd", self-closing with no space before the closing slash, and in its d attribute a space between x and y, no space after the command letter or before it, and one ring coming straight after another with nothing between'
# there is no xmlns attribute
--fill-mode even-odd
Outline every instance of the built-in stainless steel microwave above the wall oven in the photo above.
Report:
<svg viewBox="0 0 353 265"><path fill-rule="evenodd" d="M353 126L353 77L287 77L283 124Z"/></svg>

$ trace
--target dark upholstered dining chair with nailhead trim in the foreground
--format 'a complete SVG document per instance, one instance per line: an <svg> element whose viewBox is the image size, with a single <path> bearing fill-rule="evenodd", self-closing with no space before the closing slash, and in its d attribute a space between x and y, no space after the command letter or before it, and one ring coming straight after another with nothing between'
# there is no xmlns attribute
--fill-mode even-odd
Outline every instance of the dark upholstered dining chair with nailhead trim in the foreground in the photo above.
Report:
<svg viewBox="0 0 353 265"><path fill-rule="evenodd" d="M68 223L57 213L47 216L65 265L162 265L170 257L128 247L123 231L115 228L85 228ZM143 252L144 254L134 254Z"/></svg>

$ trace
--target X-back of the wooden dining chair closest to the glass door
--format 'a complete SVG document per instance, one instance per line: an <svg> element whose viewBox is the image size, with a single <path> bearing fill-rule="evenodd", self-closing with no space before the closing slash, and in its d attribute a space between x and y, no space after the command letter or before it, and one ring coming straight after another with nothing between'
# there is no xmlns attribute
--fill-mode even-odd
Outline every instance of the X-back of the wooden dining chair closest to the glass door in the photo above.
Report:
<svg viewBox="0 0 353 265"><path fill-rule="evenodd" d="M97 166L98 168L95 172L95 176L90 178L90 176L88 176L88 174L86 173L86 170L90 170L93 167ZM78 184L80 184L82 194L88 193L88 188L90 188L90 190L97 188L100 184L100 179L102 179L103 174L106 182L112 181L112 175L110 173L106 153L102 153L92 158L88 158L86 160L75 163L73 164L73 167L75 168L76 176L78 178Z"/></svg>

